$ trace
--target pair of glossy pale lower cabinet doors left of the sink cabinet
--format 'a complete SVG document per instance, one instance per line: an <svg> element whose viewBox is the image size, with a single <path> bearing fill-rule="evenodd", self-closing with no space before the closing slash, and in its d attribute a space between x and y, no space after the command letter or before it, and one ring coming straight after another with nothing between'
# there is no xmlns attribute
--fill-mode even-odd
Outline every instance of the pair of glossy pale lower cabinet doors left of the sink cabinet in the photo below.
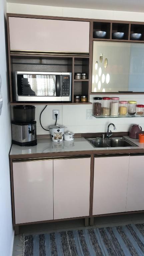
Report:
<svg viewBox="0 0 144 256"><path fill-rule="evenodd" d="M14 160L15 224L89 216L90 156Z"/></svg>

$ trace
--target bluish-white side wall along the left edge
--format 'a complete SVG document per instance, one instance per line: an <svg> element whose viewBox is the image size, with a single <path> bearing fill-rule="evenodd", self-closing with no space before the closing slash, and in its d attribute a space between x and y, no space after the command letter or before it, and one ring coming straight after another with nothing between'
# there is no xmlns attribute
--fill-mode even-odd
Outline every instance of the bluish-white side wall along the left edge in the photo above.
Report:
<svg viewBox="0 0 144 256"><path fill-rule="evenodd" d="M3 107L0 115L0 255L12 255L14 232L11 215L9 150L11 147L10 104L8 99L8 71L6 64L5 24L6 2L0 0L0 74Z"/></svg>

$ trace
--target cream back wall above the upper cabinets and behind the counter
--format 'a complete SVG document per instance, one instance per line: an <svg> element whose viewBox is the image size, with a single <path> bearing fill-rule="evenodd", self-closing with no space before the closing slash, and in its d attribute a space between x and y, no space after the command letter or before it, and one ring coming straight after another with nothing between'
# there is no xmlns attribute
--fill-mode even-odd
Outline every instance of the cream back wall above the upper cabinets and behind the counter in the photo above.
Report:
<svg viewBox="0 0 144 256"><path fill-rule="evenodd" d="M51 7L40 5L26 5L7 3L9 13L34 14L34 15L49 15L63 17L79 17L93 19L110 19L110 20L126 20L126 21L142 21L144 22L144 14L137 12L121 12L121 11L106 11L106 10L91 10L78 8ZM90 101L93 101L94 95ZM144 104L144 95L119 95L120 99L137 100L140 104ZM49 134L40 127L39 115L44 106L36 106L36 121L37 134ZM60 119L58 124L67 126L67 130L75 133L84 132L105 132L108 123L113 122L116 125L117 131L128 131L131 124L140 124L144 130L144 118L100 118L93 117L92 120L86 119L86 110L92 109L92 105L51 105L47 106L42 114L42 124L45 128L54 124L52 119L52 110L60 110Z"/></svg>

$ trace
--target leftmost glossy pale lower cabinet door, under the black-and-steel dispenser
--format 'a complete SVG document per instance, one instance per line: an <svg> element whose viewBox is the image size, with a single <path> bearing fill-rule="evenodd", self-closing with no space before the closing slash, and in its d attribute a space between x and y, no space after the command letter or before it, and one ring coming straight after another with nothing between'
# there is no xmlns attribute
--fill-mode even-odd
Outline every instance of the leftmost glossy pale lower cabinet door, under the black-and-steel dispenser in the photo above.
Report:
<svg viewBox="0 0 144 256"><path fill-rule="evenodd" d="M13 162L15 223L53 219L53 160Z"/></svg>

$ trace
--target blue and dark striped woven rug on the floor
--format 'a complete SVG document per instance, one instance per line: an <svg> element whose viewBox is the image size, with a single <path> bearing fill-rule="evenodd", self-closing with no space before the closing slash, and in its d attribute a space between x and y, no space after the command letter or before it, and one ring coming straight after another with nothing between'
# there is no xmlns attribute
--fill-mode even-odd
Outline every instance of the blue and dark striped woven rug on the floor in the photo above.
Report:
<svg viewBox="0 0 144 256"><path fill-rule="evenodd" d="M24 256L144 256L144 224L24 236Z"/></svg>

